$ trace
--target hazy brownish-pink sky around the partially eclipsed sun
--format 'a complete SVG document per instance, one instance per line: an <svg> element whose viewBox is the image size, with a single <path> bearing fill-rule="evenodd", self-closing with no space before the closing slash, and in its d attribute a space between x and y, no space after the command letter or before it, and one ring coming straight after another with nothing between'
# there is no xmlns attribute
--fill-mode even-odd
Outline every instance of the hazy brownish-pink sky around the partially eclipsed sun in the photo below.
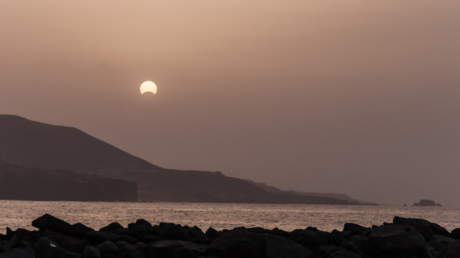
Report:
<svg viewBox="0 0 460 258"><path fill-rule="evenodd" d="M0 31L1 114L165 168L460 205L460 1L4 0Z"/></svg>

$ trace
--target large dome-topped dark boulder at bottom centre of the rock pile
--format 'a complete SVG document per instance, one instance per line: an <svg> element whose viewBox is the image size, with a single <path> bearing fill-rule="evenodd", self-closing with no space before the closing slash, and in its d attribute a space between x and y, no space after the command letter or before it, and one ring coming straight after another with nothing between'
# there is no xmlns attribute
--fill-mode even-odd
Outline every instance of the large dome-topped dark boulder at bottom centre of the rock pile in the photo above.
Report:
<svg viewBox="0 0 460 258"><path fill-rule="evenodd" d="M243 258L263 257L264 241L260 234L232 229L217 237L206 249L206 255Z"/></svg>

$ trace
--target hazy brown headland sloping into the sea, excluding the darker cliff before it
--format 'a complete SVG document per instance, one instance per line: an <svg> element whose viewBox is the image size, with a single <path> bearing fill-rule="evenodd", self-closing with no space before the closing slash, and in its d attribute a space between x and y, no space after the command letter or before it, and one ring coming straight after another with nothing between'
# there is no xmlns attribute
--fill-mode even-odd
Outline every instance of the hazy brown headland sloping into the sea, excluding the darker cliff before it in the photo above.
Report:
<svg viewBox="0 0 460 258"><path fill-rule="evenodd" d="M135 182L139 201L358 204L328 196L271 192L221 172L160 168L73 127L11 115L0 115L0 125L0 159L23 166L17 173L29 169L23 174L25 182L33 172L68 171L71 177L80 172ZM74 201L81 200L75 196Z"/></svg>

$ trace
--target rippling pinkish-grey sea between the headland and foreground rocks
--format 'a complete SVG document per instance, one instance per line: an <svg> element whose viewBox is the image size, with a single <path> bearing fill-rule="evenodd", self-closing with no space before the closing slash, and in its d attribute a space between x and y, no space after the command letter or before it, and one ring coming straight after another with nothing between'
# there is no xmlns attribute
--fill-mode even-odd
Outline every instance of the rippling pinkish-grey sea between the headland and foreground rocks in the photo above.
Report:
<svg viewBox="0 0 460 258"><path fill-rule="evenodd" d="M81 222L96 230L111 222L127 227L143 218L152 224L173 222L197 226L203 231L209 227L217 230L277 227L285 231L316 227L330 232L334 229L341 231L346 222L371 227L391 222L394 216L423 218L448 231L460 228L460 207L0 201L0 233L5 233L6 227L33 230L32 220L43 214L51 214L71 224Z"/></svg>

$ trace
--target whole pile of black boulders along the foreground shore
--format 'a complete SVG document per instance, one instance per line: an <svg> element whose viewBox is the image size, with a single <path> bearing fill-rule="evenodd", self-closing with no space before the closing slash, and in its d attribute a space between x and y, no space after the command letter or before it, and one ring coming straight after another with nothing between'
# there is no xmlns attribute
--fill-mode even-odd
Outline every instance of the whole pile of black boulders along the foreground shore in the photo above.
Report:
<svg viewBox="0 0 460 258"><path fill-rule="evenodd" d="M128 228L113 222L95 231L45 214L38 230L7 228L0 258L98 257L460 257L460 229L452 232L427 220L395 217L372 228L347 223L342 231L314 227L291 232L243 227L203 232L173 223L139 219Z"/></svg>

